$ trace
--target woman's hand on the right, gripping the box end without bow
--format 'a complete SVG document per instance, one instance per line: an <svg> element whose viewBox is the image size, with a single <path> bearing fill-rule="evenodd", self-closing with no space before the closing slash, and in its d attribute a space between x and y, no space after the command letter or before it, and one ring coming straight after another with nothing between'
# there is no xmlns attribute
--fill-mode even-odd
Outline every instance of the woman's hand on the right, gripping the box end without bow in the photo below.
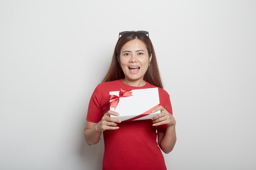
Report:
<svg viewBox="0 0 256 170"><path fill-rule="evenodd" d="M154 123L153 126L159 126L163 124L171 126L176 124L174 117L163 106L155 108L155 110L152 110L151 113L157 112L158 110L161 110L161 113L158 113L151 119Z"/></svg>

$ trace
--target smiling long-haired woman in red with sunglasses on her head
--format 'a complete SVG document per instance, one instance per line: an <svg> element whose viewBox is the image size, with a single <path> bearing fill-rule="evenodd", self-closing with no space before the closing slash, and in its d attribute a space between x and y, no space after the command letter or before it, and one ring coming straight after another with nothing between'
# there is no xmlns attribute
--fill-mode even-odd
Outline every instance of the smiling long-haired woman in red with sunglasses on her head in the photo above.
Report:
<svg viewBox="0 0 256 170"><path fill-rule="evenodd" d="M118 117L110 117L119 115L110 110L110 91L154 87L158 87L161 106L152 113L158 110L161 113L152 119L137 121L121 122ZM108 73L90 99L84 130L88 145L97 144L103 132L103 170L166 170L159 147L166 154L173 150L176 121L172 116L170 97L162 88L148 32L119 33Z"/></svg>

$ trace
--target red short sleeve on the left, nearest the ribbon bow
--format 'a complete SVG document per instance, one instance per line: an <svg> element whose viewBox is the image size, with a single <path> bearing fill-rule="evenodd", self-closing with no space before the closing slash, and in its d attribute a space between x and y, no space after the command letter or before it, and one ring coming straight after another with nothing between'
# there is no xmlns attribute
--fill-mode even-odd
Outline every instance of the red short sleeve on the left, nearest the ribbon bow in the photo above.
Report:
<svg viewBox="0 0 256 170"><path fill-rule="evenodd" d="M99 95L99 85L95 88L92 93L92 97L89 102L88 112L87 112L87 121L98 123L102 118L101 110L101 100Z"/></svg>

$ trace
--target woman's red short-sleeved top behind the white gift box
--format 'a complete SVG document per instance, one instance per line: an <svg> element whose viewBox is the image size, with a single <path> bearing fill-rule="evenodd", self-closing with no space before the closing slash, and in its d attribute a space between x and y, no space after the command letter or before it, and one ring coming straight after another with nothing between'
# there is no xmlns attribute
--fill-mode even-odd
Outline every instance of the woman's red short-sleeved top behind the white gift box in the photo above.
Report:
<svg viewBox="0 0 256 170"><path fill-rule="evenodd" d="M98 123L110 109L109 92L155 88L146 82L135 87L124 84L121 79L99 84L90 99L87 121ZM170 96L158 88L160 105L172 114ZM143 104L143 102L141 103ZM157 131L165 132L167 125L152 126L151 119L124 121L117 130L105 130L103 170L166 170L164 157L157 144Z"/></svg>

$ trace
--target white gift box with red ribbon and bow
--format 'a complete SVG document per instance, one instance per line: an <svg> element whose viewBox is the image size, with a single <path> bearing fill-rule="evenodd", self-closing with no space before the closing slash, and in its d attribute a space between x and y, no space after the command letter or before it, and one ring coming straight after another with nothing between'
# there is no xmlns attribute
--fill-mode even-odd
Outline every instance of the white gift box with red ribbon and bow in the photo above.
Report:
<svg viewBox="0 0 256 170"><path fill-rule="evenodd" d="M160 110L151 113L160 104L158 88L130 91L120 89L120 91L111 91L109 94L112 96L112 99L110 99L110 110L119 113L119 116L110 115L110 117L117 117L121 121L131 121L151 119L158 113L161 113Z"/></svg>

